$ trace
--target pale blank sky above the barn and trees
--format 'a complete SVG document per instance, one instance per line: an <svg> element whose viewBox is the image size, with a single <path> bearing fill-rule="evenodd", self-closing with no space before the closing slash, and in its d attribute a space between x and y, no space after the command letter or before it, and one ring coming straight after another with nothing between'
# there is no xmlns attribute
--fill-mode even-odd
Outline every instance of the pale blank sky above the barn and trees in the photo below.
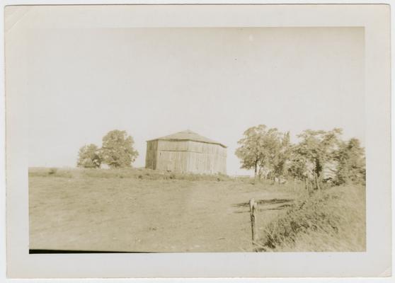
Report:
<svg viewBox="0 0 395 283"><path fill-rule="evenodd" d="M228 146L248 127L343 128L365 141L363 28L36 28L26 66L29 166L75 167L113 129L146 141L185 129Z"/></svg>

